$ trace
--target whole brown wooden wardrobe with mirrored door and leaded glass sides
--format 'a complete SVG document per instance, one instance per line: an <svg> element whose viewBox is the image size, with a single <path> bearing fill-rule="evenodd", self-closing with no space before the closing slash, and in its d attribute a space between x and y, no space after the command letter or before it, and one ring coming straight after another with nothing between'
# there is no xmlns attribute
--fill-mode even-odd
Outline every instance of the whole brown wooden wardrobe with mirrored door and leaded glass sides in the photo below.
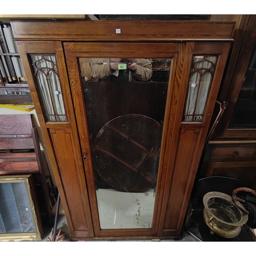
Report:
<svg viewBox="0 0 256 256"><path fill-rule="evenodd" d="M72 238L179 237L235 23L11 25Z"/></svg>

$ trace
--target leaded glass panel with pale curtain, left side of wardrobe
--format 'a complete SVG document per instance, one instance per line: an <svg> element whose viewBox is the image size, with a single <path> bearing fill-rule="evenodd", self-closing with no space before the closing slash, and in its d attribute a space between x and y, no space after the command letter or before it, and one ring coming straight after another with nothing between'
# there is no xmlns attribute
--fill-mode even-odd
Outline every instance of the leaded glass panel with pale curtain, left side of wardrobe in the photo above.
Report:
<svg viewBox="0 0 256 256"><path fill-rule="evenodd" d="M46 121L67 121L54 55L30 55Z"/></svg>

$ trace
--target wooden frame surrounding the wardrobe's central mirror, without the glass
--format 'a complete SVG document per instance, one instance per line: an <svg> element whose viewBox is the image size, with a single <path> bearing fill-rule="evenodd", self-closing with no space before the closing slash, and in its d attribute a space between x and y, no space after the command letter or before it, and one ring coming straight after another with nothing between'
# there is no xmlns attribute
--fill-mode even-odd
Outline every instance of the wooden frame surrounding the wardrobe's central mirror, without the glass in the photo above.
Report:
<svg viewBox="0 0 256 256"><path fill-rule="evenodd" d="M82 95L82 88L80 78L75 74L79 74L78 64L74 64L74 60L78 57L90 58L90 57L151 57L151 58L173 58L173 70L170 74L170 80L168 84L167 100L166 100L166 109L165 109L165 124L163 128L162 136L162 150L160 155L160 164L161 168L158 172L158 184L157 184L157 194L155 199L155 210L154 217L159 216L161 208L161 198L163 194L163 184L166 172L169 167L168 155L169 153L169 142L172 140L172 121L170 120L174 113L171 105L173 97L173 89L175 83L175 77L177 68L182 69L183 67L183 55L180 53L184 51L184 47L180 45L185 45L184 43L170 43L170 42L133 42L133 43L123 43L123 42L95 42L95 43L80 43L80 42L65 42L63 47L65 49L65 55L67 59L67 67L70 78L71 92L74 102L74 109L76 113L78 133L80 136L81 151L84 159L84 172L86 173L86 179L89 190L89 198L91 205L91 215L93 219L94 232L96 237L124 237L124 236L136 236L136 237L153 237L157 235L158 232L158 218L153 218L152 229L106 229L100 230L99 219L98 219L98 209L97 209L97 200L96 200L96 191L93 177L93 167L92 167L92 158L90 154L90 142L89 142L89 132L88 125L86 121L85 105ZM111 47L110 47L111 46ZM115 52L111 50L115 49ZM87 49L90 49L88 52ZM139 50L138 50L139 49ZM100 50L100 51L99 51ZM150 50L153 53L150 54ZM148 56L150 54L150 56ZM182 57L181 57L182 56ZM187 74L186 74L187 75ZM175 93L179 92L177 87ZM83 104L78 104L78 102L83 102ZM181 106L183 108L183 105ZM176 106L174 106L176 108ZM172 109L172 110L171 110ZM84 136L87 135L87 136ZM164 159L166 158L166 159ZM159 165L160 166L160 165Z"/></svg>

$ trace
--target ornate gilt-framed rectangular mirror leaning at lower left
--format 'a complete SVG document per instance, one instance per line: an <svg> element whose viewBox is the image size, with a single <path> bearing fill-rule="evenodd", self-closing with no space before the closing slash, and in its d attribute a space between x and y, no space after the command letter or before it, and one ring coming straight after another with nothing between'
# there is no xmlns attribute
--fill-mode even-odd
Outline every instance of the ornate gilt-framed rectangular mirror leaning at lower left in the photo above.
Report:
<svg viewBox="0 0 256 256"><path fill-rule="evenodd" d="M31 175L0 177L0 241L41 240Z"/></svg>

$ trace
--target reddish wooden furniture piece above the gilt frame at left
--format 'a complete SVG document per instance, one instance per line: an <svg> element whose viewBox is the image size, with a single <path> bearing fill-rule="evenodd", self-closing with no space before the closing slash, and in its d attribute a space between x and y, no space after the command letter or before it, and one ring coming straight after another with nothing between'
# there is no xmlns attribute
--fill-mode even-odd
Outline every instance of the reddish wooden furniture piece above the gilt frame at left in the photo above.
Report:
<svg viewBox="0 0 256 256"><path fill-rule="evenodd" d="M30 114L0 115L0 177L32 174L42 220L53 224L52 179L44 166L39 136ZM34 189L34 188L33 188ZM41 217L38 219L41 221Z"/></svg>

